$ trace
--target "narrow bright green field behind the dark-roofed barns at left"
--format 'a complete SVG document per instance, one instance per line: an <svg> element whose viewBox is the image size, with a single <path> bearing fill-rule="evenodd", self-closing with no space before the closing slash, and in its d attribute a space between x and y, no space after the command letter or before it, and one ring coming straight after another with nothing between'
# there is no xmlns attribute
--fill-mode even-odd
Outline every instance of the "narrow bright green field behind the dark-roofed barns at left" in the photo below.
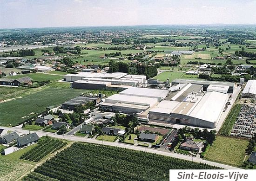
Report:
<svg viewBox="0 0 256 181"><path fill-rule="evenodd" d="M56 80L61 80L63 76L61 75L50 75L45 73L28 73L28 74L22 74L22 75L16 75L8 78L23 78L23 77L30 77L34 81L43 81L43 80L50 80L51 82Z"/></svg>

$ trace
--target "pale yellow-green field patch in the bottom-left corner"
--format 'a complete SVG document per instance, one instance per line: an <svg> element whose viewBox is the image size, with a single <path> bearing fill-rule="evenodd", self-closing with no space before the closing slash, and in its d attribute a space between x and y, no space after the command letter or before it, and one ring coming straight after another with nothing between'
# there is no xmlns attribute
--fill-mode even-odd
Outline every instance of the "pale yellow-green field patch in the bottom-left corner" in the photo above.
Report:
<svg viewBox="0 0 256 181"><path fill-rule="evenodd" d="M0 159L0 181L16 181L21 175L31 170L33 164Z"/></svg>

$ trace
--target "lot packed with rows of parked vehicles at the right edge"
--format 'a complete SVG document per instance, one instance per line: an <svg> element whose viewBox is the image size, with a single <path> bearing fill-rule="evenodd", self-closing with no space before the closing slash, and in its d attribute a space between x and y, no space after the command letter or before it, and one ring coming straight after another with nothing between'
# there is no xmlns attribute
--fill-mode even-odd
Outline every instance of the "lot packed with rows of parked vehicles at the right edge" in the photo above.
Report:
<svg viewBox="0 0 256 181"><path fill-rule="evenodd" d="M254 133L256 133L256 106L243 104L230 135L251 138Z"/></svg>

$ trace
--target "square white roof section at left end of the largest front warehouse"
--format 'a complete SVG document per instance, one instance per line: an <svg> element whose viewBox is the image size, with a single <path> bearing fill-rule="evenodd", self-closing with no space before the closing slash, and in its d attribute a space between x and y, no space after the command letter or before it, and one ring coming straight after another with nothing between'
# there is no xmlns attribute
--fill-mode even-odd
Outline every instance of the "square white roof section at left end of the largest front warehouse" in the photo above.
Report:
<svg viewBox="0 0 256 181"><path fill-rule="evenodd" d="M158 103L155 107L153 107L151 110L149 110L149 112L170 114L179 103L180 102L177 101L163 100L160 103Z"/></svg>

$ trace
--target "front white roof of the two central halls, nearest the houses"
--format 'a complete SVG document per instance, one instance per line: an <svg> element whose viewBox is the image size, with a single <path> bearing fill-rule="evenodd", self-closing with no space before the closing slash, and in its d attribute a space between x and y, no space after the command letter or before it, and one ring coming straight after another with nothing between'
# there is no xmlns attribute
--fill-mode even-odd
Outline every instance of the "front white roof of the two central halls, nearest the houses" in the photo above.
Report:
<svg viewBox="0 0 256 181"><path fill-rule="evenodd" d="M129 88L128 88L129 89ZM149 98L149 97L137 97L137 96L128 96L128 95L121 95L121 94L114 94L105 99L106 103L132 103L137 105L149 105L153 106L157 103L156 98Z"/></svg>

